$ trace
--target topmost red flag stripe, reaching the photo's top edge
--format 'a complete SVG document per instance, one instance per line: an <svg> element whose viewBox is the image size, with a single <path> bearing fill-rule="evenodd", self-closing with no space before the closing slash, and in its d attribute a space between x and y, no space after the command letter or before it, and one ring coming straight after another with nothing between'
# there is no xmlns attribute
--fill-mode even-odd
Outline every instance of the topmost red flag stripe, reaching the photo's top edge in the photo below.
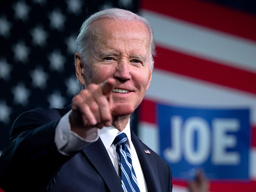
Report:
<svg viewBox="0 0 256 192"><path fill-rule="evenodd" d="M199 0L141 0L140 8L256 41L256 16Z"/></svg>

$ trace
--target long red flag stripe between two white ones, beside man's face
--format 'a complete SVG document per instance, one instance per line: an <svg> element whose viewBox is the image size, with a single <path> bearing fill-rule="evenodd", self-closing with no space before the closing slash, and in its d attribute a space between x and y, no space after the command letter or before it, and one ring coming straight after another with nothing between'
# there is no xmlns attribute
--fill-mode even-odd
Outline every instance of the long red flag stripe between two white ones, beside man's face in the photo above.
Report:
<svg viewBox="0 0 256 192"><path fill-rule="evenodd" d="M256 74L157 47L155 68L256 94Z"/></svg>

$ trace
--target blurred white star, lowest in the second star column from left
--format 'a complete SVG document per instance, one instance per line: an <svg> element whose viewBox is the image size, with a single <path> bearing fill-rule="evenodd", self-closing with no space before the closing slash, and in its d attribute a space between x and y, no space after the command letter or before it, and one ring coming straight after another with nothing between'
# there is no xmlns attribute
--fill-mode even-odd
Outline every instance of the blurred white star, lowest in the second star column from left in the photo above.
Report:
<svg viewBox="0 0 256 192"><path fill-rule="evenodd" d="M15 104L28 105L30 90L25 87L23 82L19 82L17 86L12 87L12 94L14 95L13 101Z"/></svg>

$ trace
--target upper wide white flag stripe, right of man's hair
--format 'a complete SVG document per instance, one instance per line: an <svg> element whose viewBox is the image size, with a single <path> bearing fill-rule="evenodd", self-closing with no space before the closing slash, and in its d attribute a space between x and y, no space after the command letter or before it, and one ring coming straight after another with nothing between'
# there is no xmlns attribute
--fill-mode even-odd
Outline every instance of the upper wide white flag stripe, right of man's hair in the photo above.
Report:
<svg viewBox="0 0 256 192"><path fill-rule="evenodd" d="M256 72L256 42L149 10L140 13L150 22L158 46Z"/></svg>

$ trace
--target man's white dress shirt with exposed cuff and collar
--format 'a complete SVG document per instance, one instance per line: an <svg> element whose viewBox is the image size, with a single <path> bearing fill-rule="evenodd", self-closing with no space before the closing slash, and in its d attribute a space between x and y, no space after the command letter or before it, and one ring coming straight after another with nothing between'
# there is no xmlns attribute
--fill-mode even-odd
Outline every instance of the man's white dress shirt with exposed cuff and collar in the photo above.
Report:
<svg viewBox="0 0 256 192"><path fill-rule="evenodd" d="M65 114L60 121L58 122L55 130L55 143L60 153L64 155L71 155L81 150L88 144L95 142L100 139L102 140L108 155L111 159L111 162L116 170L116 173L119 176L118 171L118 159L116 155L116 147L113 144L113 141L118 134L118 130L114 127L103 127L102 129L92 128L89 130L86 138L80 137L75 132L71 131L70 122L69 122L69 114L71 110ZM142 168L131 140L131 132L130 132L130 119L124 130L122 131L127 135L127 148L130 151L132 156L132 166L134 168L134 172L136 174L138 186L140 188L140 192L147 192L146 181L144 178L144 174L142 172Z"/></svg>

